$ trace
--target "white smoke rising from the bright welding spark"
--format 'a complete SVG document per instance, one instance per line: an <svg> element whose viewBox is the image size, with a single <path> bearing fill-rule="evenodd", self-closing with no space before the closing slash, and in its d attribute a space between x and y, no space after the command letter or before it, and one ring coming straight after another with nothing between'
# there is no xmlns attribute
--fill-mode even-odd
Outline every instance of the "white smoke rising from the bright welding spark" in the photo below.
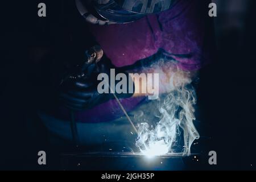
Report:
<svg viewBox="0 0 256 182"><path fill-rule="evenodd" d="M195 120L196 93L191 86L191 77L172 65L168 94L157 101L159 118L156 126L150 126L147 119L139 124L136 146L147 156L175 153L174 146L183 135L183 155L191 154L191 145L199 139L193 121ZM182 74L180 74L182 73ZM146 118L143 111L136 118ZM181 146L182 147L182 146Z"/></svg>

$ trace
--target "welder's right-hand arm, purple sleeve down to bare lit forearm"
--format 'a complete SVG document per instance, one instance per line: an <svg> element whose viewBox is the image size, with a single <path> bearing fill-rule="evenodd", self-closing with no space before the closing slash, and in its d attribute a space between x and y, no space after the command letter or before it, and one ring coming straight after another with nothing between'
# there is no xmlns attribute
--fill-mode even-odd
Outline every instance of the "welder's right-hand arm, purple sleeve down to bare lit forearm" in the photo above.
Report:
<svg viewBox="0 0 256 182"><path fill-rule="evenodd" d="M168 56L159 60L152 56L144 60L144 63L136 63L141 69L131 69L129 72L159 73L159 93L189 84L197 71L214 59L214 28L208 16L209 3L180 0L173 9L159 14L157 19L161 36L158 41L162 43L160 50ZM138 78L134 85L134 97L144 96L139 90L152 87Z"/></svg>

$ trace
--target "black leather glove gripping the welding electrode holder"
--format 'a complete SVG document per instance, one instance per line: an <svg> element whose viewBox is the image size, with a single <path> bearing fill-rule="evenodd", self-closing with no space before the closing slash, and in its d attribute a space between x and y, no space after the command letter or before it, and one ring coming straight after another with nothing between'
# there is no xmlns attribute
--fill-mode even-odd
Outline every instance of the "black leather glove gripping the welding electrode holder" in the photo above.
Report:
<svg viewBox="0 0 256 182"><path fill-rule="evenodd" d="M107 75L109 75L110 69L115 69L116 74L120 72L125 72L121 71L121 69L115 68L114 65L108 59L103 59L100 61L100 63L97 64L97 66L92 65L92 67L93 68L90 69L94 70L91 71L92 73L90 73L89 77L85 76L76 79L69 79L63 83L63 86L61 88L60 99L63 102L63 104L67 106L69 109L91 109L94 106L115 99L112 93L98 93L97 86L100 81L97 81L97 76L100 73L106 73ZM125 74L126 76L129 76L128 73ZM115 82L115 84L117 83ZM129 84L128 81L127 84ZM118 98L129 98L133 96L133 93L116 93L116 96Z"/></svg>

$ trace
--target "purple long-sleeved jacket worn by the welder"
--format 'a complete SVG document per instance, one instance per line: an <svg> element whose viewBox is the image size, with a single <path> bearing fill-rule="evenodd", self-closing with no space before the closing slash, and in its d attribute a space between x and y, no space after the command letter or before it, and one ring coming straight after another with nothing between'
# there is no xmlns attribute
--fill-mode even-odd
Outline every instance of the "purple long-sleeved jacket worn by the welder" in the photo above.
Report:
<svg viewBox="0 0 256 182"><path fill-rule="evenodd" d="M205 8L201 9L204 5ZM177 60L181 69L196 71L210 60L210 43L205 42L207 7L207 3L202 5L200 0L181 0L171 10L148 15L134 23L92 25L90 30L116 67L132 65L163 48ZM121 102L130 111L142 100L128 98ZM80 122L105 122L121 115L117 102L112 100L78 112L76 119Z"/></svg>

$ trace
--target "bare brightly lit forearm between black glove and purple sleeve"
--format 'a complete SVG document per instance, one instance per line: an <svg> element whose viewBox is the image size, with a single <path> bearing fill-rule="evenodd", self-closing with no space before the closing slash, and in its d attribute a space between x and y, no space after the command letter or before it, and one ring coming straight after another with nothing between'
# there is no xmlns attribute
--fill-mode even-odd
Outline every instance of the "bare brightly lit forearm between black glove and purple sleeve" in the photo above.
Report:
<svg viewBox="0 0 256 182"><path fill-rule="evenodd" d="M126 71L133 76L135 88L133 97L152 96L155 89L158 89L155 90L158 94L168 93L180 86L191 83L196 76L197 71L180 69L171 57L158 57L155 59L155 63L151 65L137 69L129 68ZM154 75L158 76L155 77Z"/></svg>

